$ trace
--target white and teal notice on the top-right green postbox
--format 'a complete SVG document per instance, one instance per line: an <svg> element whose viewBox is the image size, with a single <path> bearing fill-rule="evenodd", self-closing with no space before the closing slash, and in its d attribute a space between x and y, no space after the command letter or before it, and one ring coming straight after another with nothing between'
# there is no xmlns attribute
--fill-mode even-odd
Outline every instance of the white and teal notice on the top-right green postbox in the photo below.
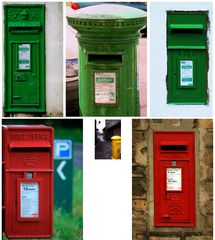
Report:
<svg viewBox="0 0 215 240"><path fill-rule="evenodd" d="M193 86L193 61L180 61L180 86Z"/></svg>

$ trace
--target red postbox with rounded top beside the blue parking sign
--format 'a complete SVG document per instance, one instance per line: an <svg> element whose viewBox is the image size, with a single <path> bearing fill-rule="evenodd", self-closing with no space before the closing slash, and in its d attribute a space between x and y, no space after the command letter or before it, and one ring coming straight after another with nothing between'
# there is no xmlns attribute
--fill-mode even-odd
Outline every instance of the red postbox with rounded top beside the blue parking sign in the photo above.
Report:
<svg viewBox="0 0 215 240"><path fill-rule="evenodd" d="M8 238L53 232L53 128L3 126L3 231Z"/></svg>

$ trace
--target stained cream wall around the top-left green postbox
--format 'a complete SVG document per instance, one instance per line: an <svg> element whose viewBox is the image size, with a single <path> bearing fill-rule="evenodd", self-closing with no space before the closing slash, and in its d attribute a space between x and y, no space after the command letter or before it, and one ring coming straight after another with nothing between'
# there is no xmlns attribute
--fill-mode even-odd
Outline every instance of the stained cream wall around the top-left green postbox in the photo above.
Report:
<svg viewBox="0 0 215 240"><path fill-rule="evenodd" d="M9 3L16 4L7 2ZM19 2L18 4L22 3L32 4L32 2ZM63 116L63 3L37 3L45 4L46 113L15 113L9 116ZM4 80L2 85L4 93Z"/></svg>

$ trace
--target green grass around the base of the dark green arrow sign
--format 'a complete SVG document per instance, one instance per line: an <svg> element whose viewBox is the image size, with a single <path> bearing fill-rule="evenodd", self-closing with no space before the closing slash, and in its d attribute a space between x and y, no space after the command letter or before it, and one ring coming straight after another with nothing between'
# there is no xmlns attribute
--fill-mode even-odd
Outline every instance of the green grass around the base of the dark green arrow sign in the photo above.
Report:
<svg viewBox="0 0 215 240"><path fill-rule="evenodd" d="M6 240L5 236L3 239ZM73 169L72 212L54 210L52 240L83 240L83 171Z"/></svg>

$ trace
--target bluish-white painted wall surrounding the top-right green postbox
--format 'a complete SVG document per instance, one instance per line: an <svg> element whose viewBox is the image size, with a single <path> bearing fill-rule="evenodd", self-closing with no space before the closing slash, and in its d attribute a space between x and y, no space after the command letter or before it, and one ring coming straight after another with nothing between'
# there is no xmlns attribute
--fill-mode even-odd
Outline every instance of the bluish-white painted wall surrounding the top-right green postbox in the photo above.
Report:
<svg viewBox="0 0 215 240"><path fill-rule="evenodd" d="M167 41L166 12L209 11L208 29L208 105L167 104ZM212 116L212 11L211 2L151 2L150 3L150 117L211 117Z"/></svg>

